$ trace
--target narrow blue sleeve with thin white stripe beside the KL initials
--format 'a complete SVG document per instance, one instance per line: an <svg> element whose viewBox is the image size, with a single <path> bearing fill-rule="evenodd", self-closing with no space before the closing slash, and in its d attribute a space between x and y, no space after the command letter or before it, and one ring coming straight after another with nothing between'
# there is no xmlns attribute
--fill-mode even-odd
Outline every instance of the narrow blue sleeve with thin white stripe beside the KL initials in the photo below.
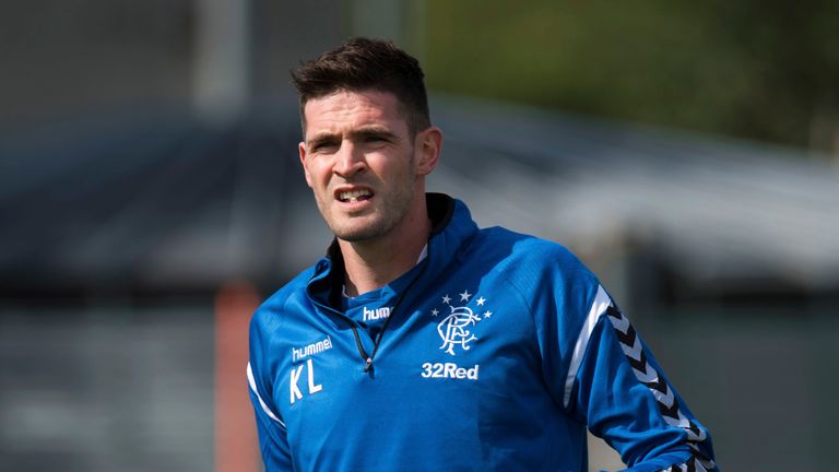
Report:
<svg viewBox="0 0 839 472"><path fill-rule="evenodd" d="M274 406L273 391L270 376L270 365L264 362L263 337L260 333L257 317L251 321L250 328L250 362L247 376L250 401L257 417L257 433L259 435L259 450L265 472L282 472L294 470L292 465L291 448L288 446L287 428L285 422Z"/></svg>

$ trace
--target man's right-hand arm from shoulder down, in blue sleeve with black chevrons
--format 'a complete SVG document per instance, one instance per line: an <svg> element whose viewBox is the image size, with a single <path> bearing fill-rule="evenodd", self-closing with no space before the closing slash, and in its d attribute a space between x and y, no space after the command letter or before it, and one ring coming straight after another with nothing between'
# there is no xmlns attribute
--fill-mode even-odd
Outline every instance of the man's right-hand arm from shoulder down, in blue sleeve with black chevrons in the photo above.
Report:
<svg viewBox="0 0 839 472"><path fill-rule="evenodd" d="M558 245L519 245L510 284L533 319L542 379L631 471L718 471L708 432L598 279Z"/></svg>

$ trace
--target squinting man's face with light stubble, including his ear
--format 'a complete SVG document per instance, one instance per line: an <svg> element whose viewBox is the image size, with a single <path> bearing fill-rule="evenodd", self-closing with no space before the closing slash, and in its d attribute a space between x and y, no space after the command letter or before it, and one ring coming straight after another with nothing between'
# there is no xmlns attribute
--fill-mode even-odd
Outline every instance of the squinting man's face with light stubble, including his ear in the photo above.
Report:
<svg viewBox="0 0 839 472"><path fill-rule="evenodd" d="M409 224L405 216L425 198L423 176L436 164L439 130L412 139L399 111L393 94L373 91L340 91L304 107L300 162L320 213L340 239L382 237ZM433 153L429 132L437 133Z"/></svg>

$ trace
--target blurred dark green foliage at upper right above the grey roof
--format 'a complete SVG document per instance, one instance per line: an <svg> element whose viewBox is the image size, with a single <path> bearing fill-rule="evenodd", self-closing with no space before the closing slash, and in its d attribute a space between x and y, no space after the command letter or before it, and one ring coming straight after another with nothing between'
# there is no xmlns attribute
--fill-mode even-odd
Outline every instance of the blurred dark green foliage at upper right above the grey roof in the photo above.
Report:
<svg viewBox="0 0 839 472"><path fill-rule="evenodd" d="M839 132L839 2L433 0L433 90L793 145Z"/></svg>

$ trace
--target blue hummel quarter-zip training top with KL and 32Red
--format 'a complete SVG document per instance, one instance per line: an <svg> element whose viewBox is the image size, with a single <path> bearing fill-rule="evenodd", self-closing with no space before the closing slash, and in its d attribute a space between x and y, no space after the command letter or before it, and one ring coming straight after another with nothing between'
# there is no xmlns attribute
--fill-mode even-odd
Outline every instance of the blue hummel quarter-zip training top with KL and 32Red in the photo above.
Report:
<svg viewBox="0 0 839 472"><path fill-rule="evenodd" d="M269 472L584 471L587 426L631 470L710 463L710 438L682 399L664 389L664 413L683 418L672 425L639 380L614 304L612 315L592 309L604 292L577 258L554 243L478 229L462 202L448 204L453 213L427 258L389 286L342 302L332 283L340 261L324 258L257 310L251 400ZM365 371L352 327L369 354L386 314ZM646 371L660 374L637 349Z"/></svg>

